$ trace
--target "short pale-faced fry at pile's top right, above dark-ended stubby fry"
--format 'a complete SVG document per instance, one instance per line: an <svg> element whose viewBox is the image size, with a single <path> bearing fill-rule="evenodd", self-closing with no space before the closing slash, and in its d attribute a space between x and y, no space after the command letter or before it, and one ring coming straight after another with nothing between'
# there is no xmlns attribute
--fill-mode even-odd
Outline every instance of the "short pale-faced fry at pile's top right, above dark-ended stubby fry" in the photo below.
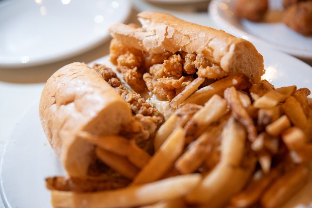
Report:
<svg viewBox="0 0 312 208"><path fill-rule="evenodd" d="M278 103L283 102L286 99L286 96L275 91L270 90L262 97L259 97L253 104L256 108L273 108Z"/></svg>

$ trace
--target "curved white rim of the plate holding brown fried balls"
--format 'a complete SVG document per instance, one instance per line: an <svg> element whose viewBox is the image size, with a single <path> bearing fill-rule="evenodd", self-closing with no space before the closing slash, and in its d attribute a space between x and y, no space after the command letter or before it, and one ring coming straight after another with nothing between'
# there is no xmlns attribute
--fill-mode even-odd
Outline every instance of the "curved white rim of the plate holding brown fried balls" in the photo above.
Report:
<svg viewBox="0 0 312 208"><path fill-rule="evenodd" d="M219 15L218 3L223 3L223 2L224 2L224 0L211 0L210 4L208 5L209 16L212 17L212 19L216 22L216 24L219 25L220 27L222 27L222 29L227 29L233 35L241 36L241 38L249 40L253 43L259 43L262 45L266 45L270 48L273 48L273 49L278 50L278 51L283 52L283 53L293 55L293 56L300 58L300 59L312 60L312 52L307 53L306 51L302 51L300 49L290 49L288 47L283 47L282 45L268 43L265 40L263 40L259 37L256 37L254 35L251 35L245 31L242 31L241 29L232 25L231 23L229 23L228 21L226 21L224 18L222 18Z"/></svg>

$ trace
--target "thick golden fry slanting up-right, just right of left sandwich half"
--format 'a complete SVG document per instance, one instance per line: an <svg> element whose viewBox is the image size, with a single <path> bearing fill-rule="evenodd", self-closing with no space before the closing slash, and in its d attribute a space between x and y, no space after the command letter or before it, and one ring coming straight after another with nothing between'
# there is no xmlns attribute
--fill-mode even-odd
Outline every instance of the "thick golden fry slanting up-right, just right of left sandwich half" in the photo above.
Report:
<svg viewBox="0 0 312 208"><path fill-rule="evenodd" d="M132 185L149 183L160 179L182 154L184 144L185 130L178 127L134 178Z"/></svg>

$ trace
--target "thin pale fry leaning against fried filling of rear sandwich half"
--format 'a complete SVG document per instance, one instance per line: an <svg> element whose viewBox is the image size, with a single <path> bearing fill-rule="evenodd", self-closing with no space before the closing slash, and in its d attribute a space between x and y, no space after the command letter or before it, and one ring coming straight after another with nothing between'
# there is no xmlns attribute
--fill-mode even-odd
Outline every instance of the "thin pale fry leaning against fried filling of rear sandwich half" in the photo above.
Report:
<svg viewBox="0 0 312 208"><path fill-rule="evenodd" d="M197 77L196 79L194 79L188 86L183 89L182 92L180 92L176 97L172 99L172 101L170 102L170 106L176 108L193 92L195 92L204 81L204 77Z"/></svg>

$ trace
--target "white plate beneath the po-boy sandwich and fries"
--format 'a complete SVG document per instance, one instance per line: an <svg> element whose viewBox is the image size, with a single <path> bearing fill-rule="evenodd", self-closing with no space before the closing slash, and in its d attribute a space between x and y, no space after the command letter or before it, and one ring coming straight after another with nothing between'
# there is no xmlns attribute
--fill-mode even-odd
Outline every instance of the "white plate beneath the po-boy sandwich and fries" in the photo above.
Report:
<svg viewBox="0 0 312 208"><path fill-rule="evenodd" d="M258 47L265 59L267 74L276 87L296 84L312 89L312 68L286 54ZM93 63L104 63L108 57ZM91 65L92 63L90 63ZM48 145L38 115L39 99L26 111L15 126L2 154L0 164L1 196L7 208L51 208L50 192L44 178L63 175L64 170ZM301 201L312 201L312 176L308 185L285 207L295 207Z"/></svg>

